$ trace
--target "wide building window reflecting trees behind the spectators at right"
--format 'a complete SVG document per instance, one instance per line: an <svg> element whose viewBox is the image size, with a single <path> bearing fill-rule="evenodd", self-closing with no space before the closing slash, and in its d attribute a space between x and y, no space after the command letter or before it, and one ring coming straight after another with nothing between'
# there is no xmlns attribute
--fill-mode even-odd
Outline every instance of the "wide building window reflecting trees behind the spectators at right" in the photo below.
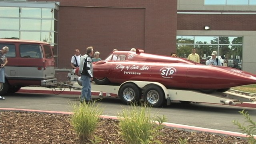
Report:
<svg viewBox="0 0 256 144"><path fill-rule="evenodd" d="M242 36L177 36L177 54L187 58L192 48L200 58L211 56L212 51L217 51L219 56L228 59L242 60Z"/></svg>

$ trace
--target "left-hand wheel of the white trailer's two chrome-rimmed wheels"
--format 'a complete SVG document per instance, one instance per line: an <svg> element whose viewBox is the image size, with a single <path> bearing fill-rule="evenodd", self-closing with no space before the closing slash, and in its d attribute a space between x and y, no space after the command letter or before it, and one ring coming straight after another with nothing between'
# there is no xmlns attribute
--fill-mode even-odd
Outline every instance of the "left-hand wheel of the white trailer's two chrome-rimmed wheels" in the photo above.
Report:
<svg viewBox="0 0 256 144"><path fill-rule="evenodd" d="M140 101L141 91L135 84L127 83L120 88L118 95L124 104L137 104Z"/></svg>

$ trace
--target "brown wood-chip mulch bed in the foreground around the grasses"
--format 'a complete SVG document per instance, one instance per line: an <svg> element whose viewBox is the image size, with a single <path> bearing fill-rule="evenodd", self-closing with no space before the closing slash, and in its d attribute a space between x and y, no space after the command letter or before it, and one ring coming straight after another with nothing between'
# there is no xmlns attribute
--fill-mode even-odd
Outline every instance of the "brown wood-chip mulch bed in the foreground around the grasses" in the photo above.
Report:
<svg viewBox="0 0 256 144"><path fill-rule="evenodd" d="M81 142L70 125L68 114L34 112L0 112L0 144L90 144ZM94 133L102 138L98 144L125 144L118 133L118 120L102 119ZM189 144L247 144L244 138L187 132L163 128L158 136L163 144L179 144L179 138ZM94 138L92 138L93 140Z"/></svg>

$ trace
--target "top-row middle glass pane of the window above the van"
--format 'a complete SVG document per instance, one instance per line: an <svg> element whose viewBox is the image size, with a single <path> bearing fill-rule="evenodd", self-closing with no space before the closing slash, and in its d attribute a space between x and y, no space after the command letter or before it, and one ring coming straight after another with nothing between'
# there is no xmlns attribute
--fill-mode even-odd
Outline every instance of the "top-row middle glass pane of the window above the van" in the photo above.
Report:
<svg viewBox="0 0 256 144"><path fill-rule="evenodd" d="M41 18L41 8L21 8L21 18Z"/></svg>

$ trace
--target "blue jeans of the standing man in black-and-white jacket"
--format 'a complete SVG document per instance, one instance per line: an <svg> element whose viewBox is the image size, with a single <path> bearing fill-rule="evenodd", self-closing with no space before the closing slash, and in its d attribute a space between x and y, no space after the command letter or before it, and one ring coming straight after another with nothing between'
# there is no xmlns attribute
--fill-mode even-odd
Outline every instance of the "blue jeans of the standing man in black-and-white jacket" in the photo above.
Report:
<svg viewBox="0 0 256 144"><path fill-rule="evenodd" d="M80 100L90 101L92 98L91 93L91 79L89 76L81 75L82 78L82 91Z"/></svg>

